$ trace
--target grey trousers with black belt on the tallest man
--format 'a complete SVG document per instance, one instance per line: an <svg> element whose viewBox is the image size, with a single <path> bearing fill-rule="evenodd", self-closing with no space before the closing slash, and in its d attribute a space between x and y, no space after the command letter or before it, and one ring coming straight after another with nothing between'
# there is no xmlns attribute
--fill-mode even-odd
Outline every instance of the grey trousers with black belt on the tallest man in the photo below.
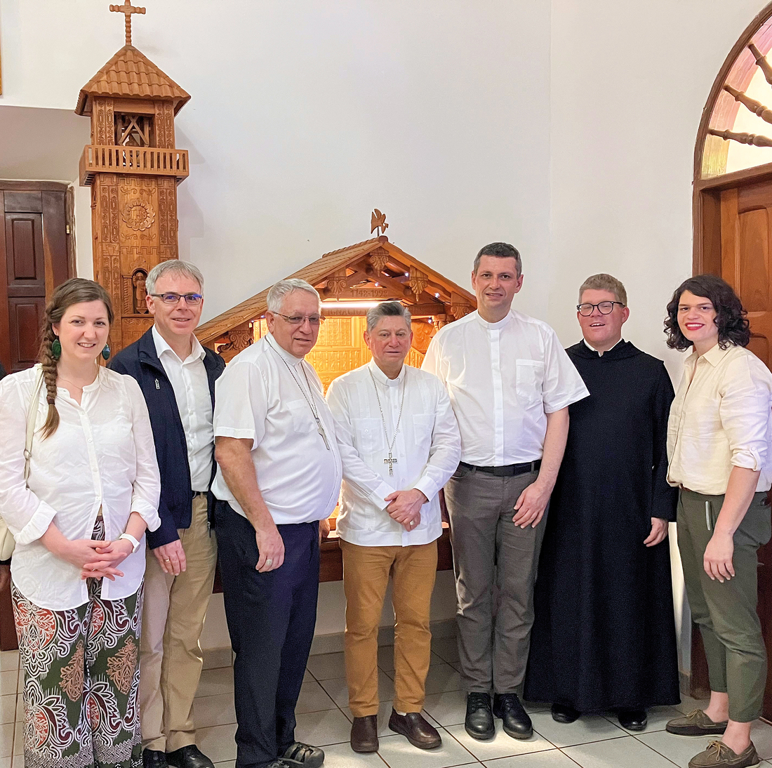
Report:
<svg viewBox="0 0 772 768"><path fill-rule="evenodd" d="M547 510L536 528L521 529L512 518L537 474L496 477L459 465L445 485L467 692L519 693L523 685Z"/></svg>

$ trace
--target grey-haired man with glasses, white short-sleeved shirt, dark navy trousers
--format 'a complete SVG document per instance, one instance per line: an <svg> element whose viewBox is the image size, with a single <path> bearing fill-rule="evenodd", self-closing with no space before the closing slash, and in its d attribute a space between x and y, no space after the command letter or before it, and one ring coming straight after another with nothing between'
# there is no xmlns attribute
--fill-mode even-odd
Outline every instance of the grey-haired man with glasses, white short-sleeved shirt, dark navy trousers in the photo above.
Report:
<svg viewBox="0 0 772 768"><path fill-rule="evenodd" d="M269 333L217 382L212 490L231 634L239 768L318 768L295 739L295 705L317 621L320 521L340 492L340 453L322 385L303 358L319 294L288 279L268 292Z"/></svg>

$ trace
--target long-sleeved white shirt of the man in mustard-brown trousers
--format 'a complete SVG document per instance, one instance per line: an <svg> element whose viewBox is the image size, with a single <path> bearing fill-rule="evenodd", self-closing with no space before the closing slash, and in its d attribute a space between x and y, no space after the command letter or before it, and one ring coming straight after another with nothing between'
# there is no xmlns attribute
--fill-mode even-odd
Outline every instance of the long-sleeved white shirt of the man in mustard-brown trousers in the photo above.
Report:
<svg viewBox="0 0 772 768"><path fill-rule="evenodd" d="M375 387L378 387L378 407ZM403 387L405 403L399 417ZM461 438L445 387L436 376L403 365L390 379L371 360L338 377L327 391L343 461L343 494L337 532L360 546L428 544L442 535L439 490L459 466ZM391 449L393 474L384 462ZM399 428L394 434L399 419ZM411 488L428 501L421 522L405 530L385 511L385 497Z"/></svg>

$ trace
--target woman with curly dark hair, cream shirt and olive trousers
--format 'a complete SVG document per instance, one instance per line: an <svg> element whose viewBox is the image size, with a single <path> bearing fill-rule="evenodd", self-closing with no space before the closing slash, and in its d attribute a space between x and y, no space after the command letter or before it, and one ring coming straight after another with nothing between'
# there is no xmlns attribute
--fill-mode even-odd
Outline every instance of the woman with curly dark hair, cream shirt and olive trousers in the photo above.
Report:
<svg viewBox="0 0 772 768"><path fill-rule="evenodd" d="M668 482L679 488L678 543L692 618L708 660L710 703L667 729L722 735L689 768L759 763L767 657L756 613L757 550L770 540L772 374L745 347L745 310L713 275L686 280L665 320L668 346L693 347L668 425Z"/></svg>

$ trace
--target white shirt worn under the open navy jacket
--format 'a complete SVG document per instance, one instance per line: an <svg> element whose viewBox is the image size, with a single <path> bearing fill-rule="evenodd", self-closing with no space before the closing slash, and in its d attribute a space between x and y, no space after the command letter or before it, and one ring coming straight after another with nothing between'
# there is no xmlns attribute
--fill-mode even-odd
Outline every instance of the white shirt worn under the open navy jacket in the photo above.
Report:
<svg viewBox="0 0 772 768"><path fill-rule="evenodd" d="M174 399L185 430L191 489L206 492L212 479L215 433L212 429L212 397L204 367L204 347L194 336L191 354L185 360L180 360L155 326L152 333L158 360L161 360L174 390Z"/></svg>

